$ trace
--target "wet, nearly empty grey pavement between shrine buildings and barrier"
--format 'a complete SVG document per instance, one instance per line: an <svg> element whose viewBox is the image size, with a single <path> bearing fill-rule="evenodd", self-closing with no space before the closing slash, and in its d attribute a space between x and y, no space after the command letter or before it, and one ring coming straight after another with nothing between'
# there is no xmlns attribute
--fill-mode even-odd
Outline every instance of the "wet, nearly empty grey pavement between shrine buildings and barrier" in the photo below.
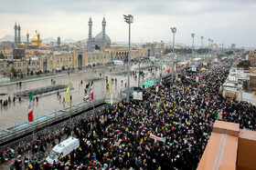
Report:
<svg viewBox="0 0 256 170"><path fill-rule="evenodd" d="M142 64L141 66L144 65L151 65L151 64ZM132 69L135 67L138 67L138 65L133 65ZM167 65L165 65L165 71ZM75 74L70 74L70 75L63 75L54 78L54 81L56 81L57 85L68 85L69 81L73 85L74 89L71 90L70 95L72 95L72 105L77 105L82 101L83 96L85 95L84 93L84 88L85 85L88 84L88 81L86 79L88 77L93 77L93 76L100 76L100 73L103 76L102 81L96 81L94 82L94 96L96 98L110 98L110 93L109 90L106 89L106 76L110 75L110 69L112 69L112 72L116 71L121 71L123 66L115 66L115 69L113 70L112 68L101 68L101 69L96 69L92 71L92 69L85 70L87 71L86 73L75 73ZM159 75L161 69L157 69L156 75ZM104 72L104 74L103 74ZM148 73L147 70L144 70L144 73ZM150 73L148 73L146 77L152 76ZM121 81L123 80L123 75L112 75L112 78L117 78L117 82L112 82L112 94L113 98L117 98L118 92L124 88L124 83L122 84ZM80 85L80 80L83 81L83 84ZM126 79L126 81L128 78ZM131 86L138 85L137 81L138 79L135 79L133 76L131 77ZM141 77L141 81L144 79ZM42 79L38 81L33 81L33 82L26 82L23 83L21 87L17 85L4 85L0 86L0 92L5 93L7 95L0 96L2 99L7 99L8 96L13 98L14 93L19 92L19 91L24 91L27 89L33 89L33 88L39 88L43 86L48 86L51 85L51 79ZM88 92L89 94L89 92ZM66 98L66 92L61 92L60 93L61 97ZM28 99L24 98L22 102L18 102L16 99L15 103L11 103L10 105L7 106L0 106L0 115L1 115L1 120L0 120L0 129L4 128L6 126L13 126L13 125L18 125L21 123L24 123L27 121L27 105L28 105ZM42 115L47 115L49 113L52 113L54 111L58 111L59 109L62 109L65 104L62 104L62 99L58 99L57 95L45 95L39 97L39 101L34 103L34 118L37 118Z"/></svg>

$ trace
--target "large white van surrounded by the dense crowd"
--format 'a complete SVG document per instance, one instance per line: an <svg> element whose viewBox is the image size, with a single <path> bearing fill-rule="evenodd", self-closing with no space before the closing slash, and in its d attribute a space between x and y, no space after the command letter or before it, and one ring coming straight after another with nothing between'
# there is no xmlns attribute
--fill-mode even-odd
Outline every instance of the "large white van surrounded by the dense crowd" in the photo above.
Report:
<svg viewBox="0 0 256 170"><path fill-rule="evenodd" d="M74 149L77 149L80 146L79 139L75 137L69 137L65 141L61 142L59 145L55 145L53 149L50 151L46 161L49 164L53 164L59 162L61 157L69 155Z"/></svg>

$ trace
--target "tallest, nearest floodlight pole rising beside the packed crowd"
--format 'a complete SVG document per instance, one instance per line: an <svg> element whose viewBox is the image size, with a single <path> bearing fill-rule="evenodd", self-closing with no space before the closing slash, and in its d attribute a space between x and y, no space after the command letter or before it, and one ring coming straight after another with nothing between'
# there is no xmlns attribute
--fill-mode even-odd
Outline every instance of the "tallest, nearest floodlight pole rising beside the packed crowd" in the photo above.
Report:
<svg viewBox="0 0 256 170"><path fill-rule="evenodd" d="M128 90L127 90L127 102L130 102L130 57L131 57L131 24L133 23L133 15L123 15L124 22L129 24L129 55L128 55Z"/></svg>

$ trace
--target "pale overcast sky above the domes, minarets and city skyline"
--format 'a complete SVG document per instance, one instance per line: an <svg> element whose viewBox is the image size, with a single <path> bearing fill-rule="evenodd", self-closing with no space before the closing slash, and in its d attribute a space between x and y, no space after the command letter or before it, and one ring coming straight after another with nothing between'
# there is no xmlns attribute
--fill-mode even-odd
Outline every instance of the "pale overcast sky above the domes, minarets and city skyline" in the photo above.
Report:
<svg viewBox="0 0 256 170"><path fill-rule="evenodd" d="M14 35L19 22L22 35L38 30L42 38L58 35L61 39L88 38L88 21L92 18L92 35L101 31L103 15L106 33L112 41L128 41L124 14L134 17L132 42L172 41L170 27L177 29L176 42L200 45L200 36L218 45L256 46L255 0L1 0L0 38Z"/></svg>

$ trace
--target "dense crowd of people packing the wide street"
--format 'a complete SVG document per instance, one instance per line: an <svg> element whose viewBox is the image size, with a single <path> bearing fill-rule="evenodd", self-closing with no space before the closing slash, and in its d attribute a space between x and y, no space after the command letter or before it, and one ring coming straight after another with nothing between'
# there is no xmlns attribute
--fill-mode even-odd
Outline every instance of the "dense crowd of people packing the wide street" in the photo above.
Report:
<svg viewBox="0 0 256 170"><path fill-rule="evenodd" d="M52 165L32 161L31 169L196 169L217 118L255 130L254 105L219 95L228 75L225 64L184 71L174 83L164 80L146 89L143 101L110 105L57 134L41 136L37 151L59 143L63 134L79 138L80 148ZM32 148L37 152L34 143Z"/></svg>

